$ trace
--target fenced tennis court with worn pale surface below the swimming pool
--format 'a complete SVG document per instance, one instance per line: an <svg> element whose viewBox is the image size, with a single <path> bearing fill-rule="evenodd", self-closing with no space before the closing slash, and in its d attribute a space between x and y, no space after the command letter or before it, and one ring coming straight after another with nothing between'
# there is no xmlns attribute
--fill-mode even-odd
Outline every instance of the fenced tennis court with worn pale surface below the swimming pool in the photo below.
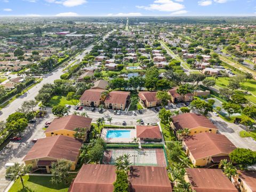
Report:
<svg viewBox="0 0 256 192"><path fill-rule="evenodd" d="M166 166L163 149L108 149L104 153L103 163L114 165L116 158L123 154L130 155L131 165Z"/></svg>

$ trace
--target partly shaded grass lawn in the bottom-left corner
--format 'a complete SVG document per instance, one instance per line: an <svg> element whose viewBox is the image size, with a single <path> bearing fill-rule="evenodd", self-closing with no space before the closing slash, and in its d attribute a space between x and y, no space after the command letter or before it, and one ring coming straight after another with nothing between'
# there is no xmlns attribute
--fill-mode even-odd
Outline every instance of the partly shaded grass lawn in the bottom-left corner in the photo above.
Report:
<svg viewBox="0 0 256 192"><path fill-rule="evenodd" d="M75 174L70 175L70 181L75 177ZM55 192L55 191L68 191L69 184L52 184L50 182L50 176L29 176L25 175L23 177L25 189L22 189L20 179L17 179L9 192L25 192L25 191L36 191L36 192Z"/></svg>

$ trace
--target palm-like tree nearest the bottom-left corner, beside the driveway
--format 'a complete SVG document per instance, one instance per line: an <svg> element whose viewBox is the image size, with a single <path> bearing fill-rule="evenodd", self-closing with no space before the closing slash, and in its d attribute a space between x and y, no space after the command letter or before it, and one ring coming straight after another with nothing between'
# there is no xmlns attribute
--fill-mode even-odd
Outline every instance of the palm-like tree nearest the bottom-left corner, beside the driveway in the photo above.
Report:
<svg viewBox="0 0 256 192"><path fill-rule="evenodd" d="M24 189L24 182L23 182L23 176L27 173L30 173L32 171L32 165L28 164L28 165L24 165L24 164L19 164L19 163L15 163L13 166L8 167L6 169L6 175L10 175L11 180L15 180L17 179L17 177L20 178L21 184L22 184L22 188Z"/></svg>

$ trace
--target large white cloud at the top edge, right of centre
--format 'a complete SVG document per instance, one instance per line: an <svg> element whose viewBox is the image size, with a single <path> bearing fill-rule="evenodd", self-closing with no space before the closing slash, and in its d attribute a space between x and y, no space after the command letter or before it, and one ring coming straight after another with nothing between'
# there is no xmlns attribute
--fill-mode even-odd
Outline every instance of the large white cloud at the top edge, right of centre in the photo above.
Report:
<svg viewBox="0 0 256 192"><path fill-rule="evenodd" d="M178 0L178 2L181 2ZM150 11L163 11L163 12L173 12L180 11L185 8L183 4L173 2L171 0L156 0L153 4L148 6L136 6L139 9L145 9Z"/></svg>

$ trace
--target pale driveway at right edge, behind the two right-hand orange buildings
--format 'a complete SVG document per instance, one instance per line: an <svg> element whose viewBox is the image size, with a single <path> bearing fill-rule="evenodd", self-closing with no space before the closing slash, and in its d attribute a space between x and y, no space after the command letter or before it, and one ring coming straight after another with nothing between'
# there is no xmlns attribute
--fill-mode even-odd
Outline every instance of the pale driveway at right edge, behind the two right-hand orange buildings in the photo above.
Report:
<svg viewBox="0 0 256 192"><path fill-rule="evenodd" d="M236 125L224 121L222 118L209 113L213 123L218 127L219 132L225 135L237 148L246 148L256 151L256 141L252 138L241 138L240 131L243 131L242 125ZM240 127L241 126L241 127Z"/></svg>

